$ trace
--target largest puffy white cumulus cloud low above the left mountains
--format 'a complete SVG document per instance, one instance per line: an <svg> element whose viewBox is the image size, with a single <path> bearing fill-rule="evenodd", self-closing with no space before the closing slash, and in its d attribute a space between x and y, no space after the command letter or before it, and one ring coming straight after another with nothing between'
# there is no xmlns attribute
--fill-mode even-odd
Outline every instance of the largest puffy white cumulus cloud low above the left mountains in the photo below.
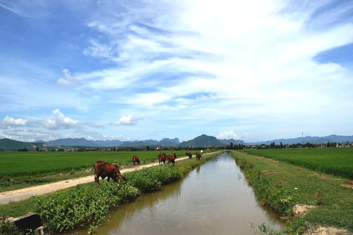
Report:
<svg viewBox="0 0 353 235"><path fill-rule="evenodd" d="M43 121L43 125L50 130L75 128L81 124L80 121L65 117L59 109L53 110L53 119Z"/></svg>

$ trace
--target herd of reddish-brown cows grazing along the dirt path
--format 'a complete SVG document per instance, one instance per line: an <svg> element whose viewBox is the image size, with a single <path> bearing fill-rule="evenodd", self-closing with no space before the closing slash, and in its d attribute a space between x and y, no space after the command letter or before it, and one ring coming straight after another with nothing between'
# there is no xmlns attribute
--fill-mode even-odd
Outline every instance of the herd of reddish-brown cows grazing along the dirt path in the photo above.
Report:
<svg viewBox="0 0 353 235"><path fill-rule="evenodd" d="M192 158L192 153L185 153L185 156L189 157L189 159ZM200 160L201 154L197 153L195 154L196 160ZM162 164L169 164L169 163L175 163L175 159L177 158L177 154L173 153L173 155L166 155L165 153L160 153L158 154L158 162L159 165ZM133 156L133 164L140 164L140 159L139 156L134 155ZM97 161L94 165L94 171L95 171L95 182L97 184L97 187L99 187L99 177L104 179L105 177L108 177L108 181L110 178L114 180L114 182L117 182L119 178L122 180L126 181L126 178L120 173L119 167L115 163L108 163L108 162L102 162L102 161Z"/></svg>

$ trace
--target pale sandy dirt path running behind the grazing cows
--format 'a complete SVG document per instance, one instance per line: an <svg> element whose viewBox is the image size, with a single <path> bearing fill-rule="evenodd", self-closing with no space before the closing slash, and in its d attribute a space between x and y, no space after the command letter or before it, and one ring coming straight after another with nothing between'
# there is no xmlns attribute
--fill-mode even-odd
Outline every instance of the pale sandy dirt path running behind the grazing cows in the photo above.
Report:
<svg viewBox="0 0 353 235"><path fill-rule="evenodd" d="M207 155L207 154L204 154ZM195 157L193 155L193 157ZM175 159L175 161L181 161L184 159L187 159L188 157L181 157ZM121 173L127 172L127 171L134 171L134 170L139 170L145 167L151 167L151 166L157 166L159 165L158 162L154 163L149 163L149 164L144 164L144 165L135 165L134 167L127 168L127 169L121 169ZM67 180L62 180L62 181L57 181L54 183L48 183L48 184L42 184L42 185L37 185L33 187L27 187L25 189L20 189L20 190L14 190L14 191L7 191L7 192L2 192L0 193L0 204L6 204L9 202L17 202L21 201L27 198L30 198L32 196L37 196L37 195L43 195L43 194L48 194L48 193L53 193L58 190L63 190L68 187L75 186L80 183L89 183L94 181L94 175L89 175L81 178L73 178L73 179L67 179Z"/></svg>

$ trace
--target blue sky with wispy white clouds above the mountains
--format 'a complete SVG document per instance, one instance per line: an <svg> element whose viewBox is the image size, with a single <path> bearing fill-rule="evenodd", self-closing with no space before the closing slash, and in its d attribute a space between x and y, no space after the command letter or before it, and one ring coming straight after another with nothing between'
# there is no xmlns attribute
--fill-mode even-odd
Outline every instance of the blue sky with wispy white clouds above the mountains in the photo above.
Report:
<svg viewBox="0 0 353 235"><path fill-rule="evenodd" d="M353 135L353 1L0 0L0 138Z"/></svg>

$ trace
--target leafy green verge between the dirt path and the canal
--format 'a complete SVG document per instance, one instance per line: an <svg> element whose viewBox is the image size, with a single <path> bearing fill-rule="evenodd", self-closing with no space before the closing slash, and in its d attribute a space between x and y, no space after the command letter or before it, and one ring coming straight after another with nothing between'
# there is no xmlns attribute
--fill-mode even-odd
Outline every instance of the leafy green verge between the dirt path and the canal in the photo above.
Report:
<svg viewBox="0 0 353 235"><path fill-rule="evenodd" d="M161 184L178 180L191 169L201 165L217 154L204 155L201 161L186 159L175 165L154 166L124 173L127 182L103 181L98 189L94 182L80 184L69 190L46 196L38 196L21 202L0 206L2 215L20 216L30 211L38 212L53 231L65 231L79 226L89 226L93 231L109 216L109 210L136 197L137 187L141 192L153 192Z"/></svg>

